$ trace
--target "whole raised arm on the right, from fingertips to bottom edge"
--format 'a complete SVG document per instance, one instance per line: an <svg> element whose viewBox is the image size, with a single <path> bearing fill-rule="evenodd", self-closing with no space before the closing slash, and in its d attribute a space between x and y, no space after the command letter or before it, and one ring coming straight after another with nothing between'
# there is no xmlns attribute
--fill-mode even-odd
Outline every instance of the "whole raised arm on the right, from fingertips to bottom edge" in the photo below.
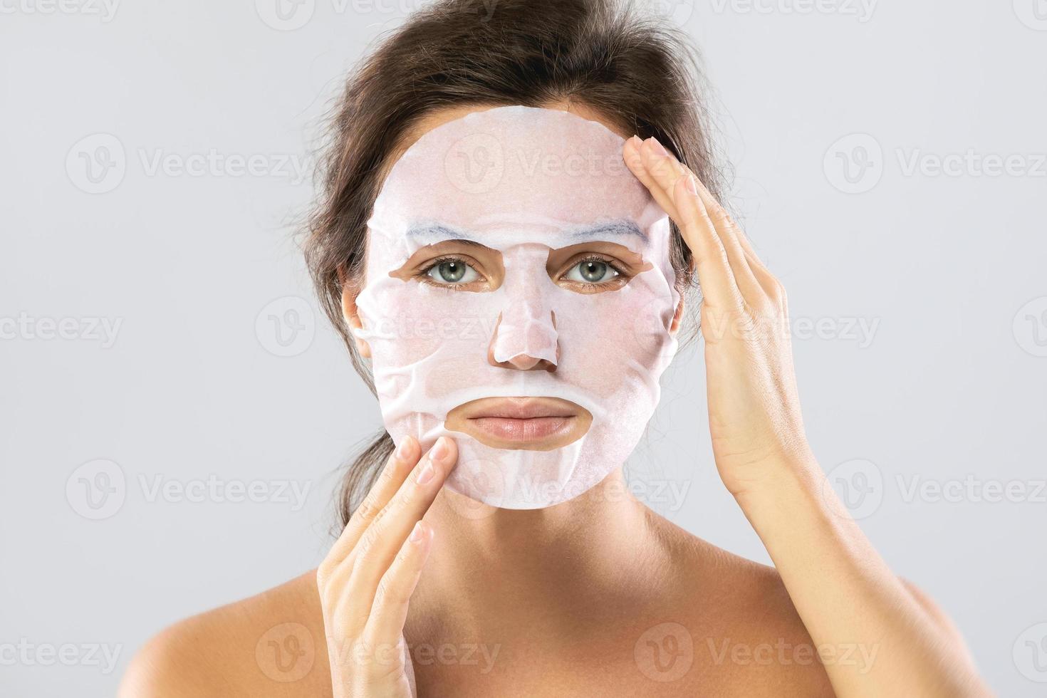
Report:
<svg viewBox="0 0 1047 698"><path fill-rule="evenodd" d="M694 256L709 427L723 483L817 646L877 651L868 672L826 663L833 691L848 698L990 695L955 627L890 570L826 487L804 435L781 284L656 140L633 137L623 156Z"/></svg>

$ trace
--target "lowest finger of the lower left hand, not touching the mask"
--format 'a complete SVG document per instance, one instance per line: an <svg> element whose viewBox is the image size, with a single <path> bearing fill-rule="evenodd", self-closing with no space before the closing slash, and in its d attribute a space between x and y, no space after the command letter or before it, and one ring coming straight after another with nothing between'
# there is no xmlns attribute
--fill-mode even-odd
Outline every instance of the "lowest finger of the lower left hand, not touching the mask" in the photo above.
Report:
<svg viewBox="0 0 1047 698"><path fill-rule="evenodd" d="M431 542L432 528L424 521L416 522L393 564L382 575L363 631L370 646L395 647L399 643L407 621L407 606L429 557Z"/></svg>

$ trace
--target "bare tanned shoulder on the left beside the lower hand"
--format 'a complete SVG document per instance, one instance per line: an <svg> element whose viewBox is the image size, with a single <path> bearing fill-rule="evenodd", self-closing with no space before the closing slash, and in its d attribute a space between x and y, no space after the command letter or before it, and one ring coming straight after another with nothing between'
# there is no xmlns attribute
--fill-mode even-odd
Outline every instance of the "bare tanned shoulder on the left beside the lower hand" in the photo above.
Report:
<svg viewBox="0 0 1047 698"><path fill-rule="evenodd" d="M325 696L331 675L315 572L195 615L150 639L119 698Z"/></svg>

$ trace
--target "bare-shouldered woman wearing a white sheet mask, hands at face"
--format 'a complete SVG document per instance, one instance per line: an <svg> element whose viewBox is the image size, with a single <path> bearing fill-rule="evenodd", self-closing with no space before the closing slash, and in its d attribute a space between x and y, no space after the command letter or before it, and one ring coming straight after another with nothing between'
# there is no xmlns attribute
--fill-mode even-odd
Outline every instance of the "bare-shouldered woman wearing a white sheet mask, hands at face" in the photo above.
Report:
<svg viewBox="0 0 1047 698"><path fill-rule="evenodd" d="M785 296L717 203L687 57L671 32L600 0L444 0L371 54L334 122L307 254L369 384L374 369L396 449L383 434L350 468L344 528L318 570L164 631L122 695L987 695L950 621L823 487L781 331ZM458 136L470 125L502 134L492 148L617 139L628 181L542 166L520 184L496 159L485 188L484 172L431 159L468 141L472 132ZM466 167L477 153L490 155L473 148ZM531 184L540 196L512 199ZM477 216L516 215L516 204L535 207L529 220L573 223L587 219L564 202L595 201L628 230L577 245L558 224L533 239L447 234L446 220L468 208L460 202L485 197ZM430 225L406 226L404 210L411 221L431 212ZM656 402L694 276L716 468L774 568L624 494L616 458ZM404 383L404 366L460 337L476 343L458 325L437 340L383 329L430 302L494 303L477 331L488 356L476 381L570 385L551 396L506 387L426 422L442 408L419 403L446 402L441 382L470 378ZM585 309L598 308L615 319L593 332L610 325L621 341L579 351ZM438 367L468 358L451 354ZM623 354L650 380L601 373ZM633 392L601 393L594 377ZM550 487L521 488L535 472Z"/></svg>

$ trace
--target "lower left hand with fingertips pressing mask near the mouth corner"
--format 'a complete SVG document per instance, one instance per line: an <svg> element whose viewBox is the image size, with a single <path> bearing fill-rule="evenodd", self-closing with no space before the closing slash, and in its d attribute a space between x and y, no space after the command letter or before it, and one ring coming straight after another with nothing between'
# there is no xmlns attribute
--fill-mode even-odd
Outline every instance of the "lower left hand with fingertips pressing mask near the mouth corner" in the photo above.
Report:
<svg viewBox="0 0 1047 698"><path fill-rule="evenodd" d="M335 698L415 695L403 624L432 542L422 516L458 449L442 436L420 456L406 437L316 570Z"/></svg>

